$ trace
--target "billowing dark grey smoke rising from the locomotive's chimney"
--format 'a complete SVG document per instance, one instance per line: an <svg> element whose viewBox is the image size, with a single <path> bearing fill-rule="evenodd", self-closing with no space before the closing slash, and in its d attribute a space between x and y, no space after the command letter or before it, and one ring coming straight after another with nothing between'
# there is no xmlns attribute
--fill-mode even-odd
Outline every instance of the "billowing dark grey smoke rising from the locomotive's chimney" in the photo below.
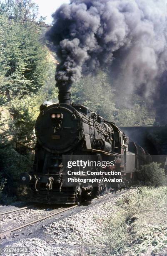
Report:
<svg viewBox="0 0 167 256"><path fill-rule="evenodd" d="M59 89L69 89L83 73L107 68L119 91L154 97L158 118L167 123L166 4L71 0L62 5L47 33L60 59L55 75Z"/></svg>

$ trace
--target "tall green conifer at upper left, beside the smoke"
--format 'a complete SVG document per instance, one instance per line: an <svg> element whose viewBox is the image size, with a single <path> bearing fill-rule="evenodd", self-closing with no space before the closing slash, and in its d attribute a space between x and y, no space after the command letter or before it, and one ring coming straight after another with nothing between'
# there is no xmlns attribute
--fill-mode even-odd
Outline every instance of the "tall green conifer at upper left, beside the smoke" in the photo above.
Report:
<svg viewBox="0 0 167 256"><path fill-rule="evenodd" d="M28 0L16 1L13 10L10 10L12 16L8 16L9 8L0 6L1 13L3 10L0 15L0 90L1 99L6 97L7 101L15 96L21 98L37 92L47 78L48 51L40 41L41 27L33 22L29 3ZM17 18L20 12L26 18Z"/></svg>

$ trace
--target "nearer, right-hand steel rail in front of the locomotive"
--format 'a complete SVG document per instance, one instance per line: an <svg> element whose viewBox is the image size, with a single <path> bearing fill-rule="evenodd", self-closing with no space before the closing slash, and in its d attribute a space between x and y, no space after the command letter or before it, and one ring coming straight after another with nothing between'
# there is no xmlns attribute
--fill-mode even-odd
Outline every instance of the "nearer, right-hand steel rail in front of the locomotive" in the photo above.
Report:
<svg viewBox="0 0 167 256"><path fill-rule="evenodd" d="M28 223L26 223L26 224L24 224L24 225L21 225L21 226L19 226L19 227L12 228L12 229L10 229L10 230L7 230L7 231L5 231L5 232L2 232L2 233L0 233L0 239L5 238L6 236L10 236L10 235L12 234L12 232L14 232L14 231L16 231L16 230L19 230L19 229L21 229L21 228L25 228L25 227L27 227L27 226L29 226L29 225L32 225L32 224L34 224L34 223L39 222L40 220L45 220L45 219L47 219L47 218L50 218L50 217L52 217L52 216L54 216L54 215L57 215L57 214L59 214L59 213L61 213L61 212L65 212L65 211L70 210L70 209L75 208L75 207L77 207L77 205L74 205L74 206L72 206L72 207L68 207L67 209L61 210L61 211L59 211L59 212L54 212L54 213L52 213L52 214L46 215L46 216L41 217L41 218L39 218L39 219L37 219L37 220L33 220L33 221L28 222Z"/></svg>

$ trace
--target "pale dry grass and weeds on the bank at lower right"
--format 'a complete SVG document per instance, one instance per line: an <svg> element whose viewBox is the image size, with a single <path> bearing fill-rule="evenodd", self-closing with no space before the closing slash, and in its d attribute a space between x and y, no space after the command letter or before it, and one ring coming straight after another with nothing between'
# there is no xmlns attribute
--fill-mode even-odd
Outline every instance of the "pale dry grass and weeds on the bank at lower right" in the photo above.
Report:
<svg viewBox="0 0 167 256"><path fill-rule="evenodd" d="M166 187L138 187L123 195L104 220L106 255L167 255L166 212Z"/></svg>

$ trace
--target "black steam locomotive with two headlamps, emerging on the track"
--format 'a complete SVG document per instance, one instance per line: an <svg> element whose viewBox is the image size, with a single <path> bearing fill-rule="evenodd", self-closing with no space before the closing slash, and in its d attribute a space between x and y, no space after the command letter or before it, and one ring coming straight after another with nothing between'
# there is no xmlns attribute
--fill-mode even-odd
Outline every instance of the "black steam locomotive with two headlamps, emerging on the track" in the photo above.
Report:
<svg viewBox="0 0 167 256"><path fill-rule="evenodd" d="M28 184L34 202L80 204L110 192L112 185L107 182L66 186L63 156L72 160L74 155L89 155L96 161L113 161L106 171L120 171L128 182L134 178L136 169L150 161L145 150L130 142L114 123L83 105L71 105L70 96L70 92L60 91L58 104L40 106L33 170L20 177L23 184Z"/></svg>

